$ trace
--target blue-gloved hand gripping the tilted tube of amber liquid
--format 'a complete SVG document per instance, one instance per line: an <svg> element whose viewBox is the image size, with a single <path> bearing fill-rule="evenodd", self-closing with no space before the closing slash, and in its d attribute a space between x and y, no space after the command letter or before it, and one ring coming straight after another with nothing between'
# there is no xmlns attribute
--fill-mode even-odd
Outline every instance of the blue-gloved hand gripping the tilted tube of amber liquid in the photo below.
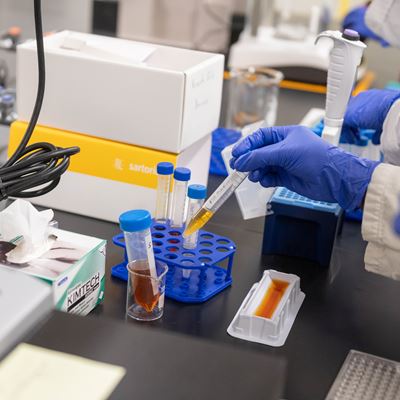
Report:
<svg viewBox="0 0 400 400"><path fill-rule="evenodd" d="M231 167L262 186L285 186L308 198L354 210L379 162L332 146L304 126L261 128L238 143Z"/></svg>

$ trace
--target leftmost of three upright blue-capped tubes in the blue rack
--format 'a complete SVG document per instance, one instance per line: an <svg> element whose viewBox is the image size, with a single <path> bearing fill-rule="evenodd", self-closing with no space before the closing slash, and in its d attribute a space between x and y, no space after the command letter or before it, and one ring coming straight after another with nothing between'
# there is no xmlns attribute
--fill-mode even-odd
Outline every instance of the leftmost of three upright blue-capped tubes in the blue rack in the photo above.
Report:
<svg viewBox="0 0 400 400"><path fill-rule="evenodd" d="M174 165L172 163L157 164L157 200L154 218L161 224L168 222L169 191L173 172Z"/></svg>

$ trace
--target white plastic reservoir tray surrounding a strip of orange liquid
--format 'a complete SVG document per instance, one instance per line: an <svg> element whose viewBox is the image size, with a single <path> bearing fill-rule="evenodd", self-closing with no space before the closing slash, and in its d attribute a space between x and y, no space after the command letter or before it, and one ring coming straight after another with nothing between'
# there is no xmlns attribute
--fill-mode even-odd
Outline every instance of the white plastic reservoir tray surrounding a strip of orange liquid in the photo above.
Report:
<svg viewBox="0 0 400 400"><path fill-rule="evenodd" d="M288 285L271 317L258 316L257 309L268 296L274 281L285 282ZM304 298L298 276L266 270L261 280L250 289L227 332L238 339L273 347L283 346Z"/></svg>

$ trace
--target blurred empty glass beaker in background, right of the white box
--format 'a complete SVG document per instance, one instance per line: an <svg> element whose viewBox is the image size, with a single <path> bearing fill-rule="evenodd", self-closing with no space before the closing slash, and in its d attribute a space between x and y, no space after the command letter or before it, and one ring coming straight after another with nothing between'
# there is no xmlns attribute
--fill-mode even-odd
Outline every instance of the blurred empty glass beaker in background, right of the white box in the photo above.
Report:
<svg viewBox="0 0 400 400"><path fill-rule="evenodd" d="M275 124L279 84L283 74L271 68L249 67L231 71L226 127L241 129L265 121Z"/></svg>

